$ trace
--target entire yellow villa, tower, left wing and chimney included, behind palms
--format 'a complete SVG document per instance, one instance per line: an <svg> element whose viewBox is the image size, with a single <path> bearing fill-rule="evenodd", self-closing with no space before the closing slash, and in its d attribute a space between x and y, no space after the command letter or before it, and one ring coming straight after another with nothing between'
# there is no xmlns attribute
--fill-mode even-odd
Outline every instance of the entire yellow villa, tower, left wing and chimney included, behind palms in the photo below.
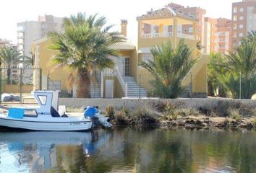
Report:
<svg viewBox="0 0 256 173"><path fill-rule="evenodd" d="M111 46L111 48L119 50L120 56L109 57L116 63L114 69L106 68L104 71L95 71L90 86L91 97L148 97L152 89L149 84L152 76L139 66L140 61L153 60L150 48L154 45L161 45L171 39L175 47L182 38L192 49L191 58L199 57L195 66L182 81L182 85L187 86L187 93L184 94L184 97L189 97L191 89L193 97L207 97L209 56L202 54L196 48L197 20L166 7L137 17L137 21L139 29L137 48L129 40ZM127 20L121 20L121 34L127 37ZM50 66L49 62L55 52L48 49L49 45L51 45L51 41L46 37L33 42L34 66L42 68L41 83L38 75L34 75L34 89L39 89L40 83L42 89L72 90L72 97L76 97L76 72L64 68L54 70L54 66ZM68 79L73 80L72 89L67 84Z"/></svg>

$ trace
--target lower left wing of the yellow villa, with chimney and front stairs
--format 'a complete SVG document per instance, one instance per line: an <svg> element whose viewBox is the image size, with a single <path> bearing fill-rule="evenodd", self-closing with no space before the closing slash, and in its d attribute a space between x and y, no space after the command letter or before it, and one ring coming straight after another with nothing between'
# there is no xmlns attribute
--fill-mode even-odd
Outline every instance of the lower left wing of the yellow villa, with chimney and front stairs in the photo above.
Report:
<svg viewBox="0 0 256 173"><path fill-rule="evenodd" d="M121 34L127 36L127 20L121 20ZM70 73L76 75L75 71L50 66L49 62L54 56L54 50L49 50L51 41L47 37L35 40L33 43L33 54L35 66L42 68L42 89L67 90ZM129 40L116 43L111 48L119 50L119 57L111 58L116 66L114 69L106 68L104 71L95 71L92 75L90 86L91 97L93 98L121 98L121 97L147 97L147 91L137 85L137 50L136 46ZM38 75L34 75L34 86L38 86ZM38 89L35 87L34 89ZM76 97L77 86L72 87L72 96Z"/></svg>

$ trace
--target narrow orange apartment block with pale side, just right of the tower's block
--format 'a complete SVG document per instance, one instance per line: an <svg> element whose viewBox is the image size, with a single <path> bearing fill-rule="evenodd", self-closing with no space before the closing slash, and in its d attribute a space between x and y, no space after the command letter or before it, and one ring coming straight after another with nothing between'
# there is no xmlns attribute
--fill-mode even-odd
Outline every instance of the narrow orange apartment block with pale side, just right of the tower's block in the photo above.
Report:
<svg viewBox="0 0 256 173"><path fill-rule="evenodd" d="M216 51L216 19L205 17L204 27L203 52L213 53Z"/></svg>

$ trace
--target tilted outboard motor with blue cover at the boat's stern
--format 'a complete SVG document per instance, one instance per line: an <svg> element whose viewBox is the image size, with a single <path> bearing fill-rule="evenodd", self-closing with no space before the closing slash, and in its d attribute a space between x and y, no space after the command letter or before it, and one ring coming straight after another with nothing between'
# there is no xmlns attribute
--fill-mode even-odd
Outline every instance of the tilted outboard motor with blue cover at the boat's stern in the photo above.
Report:
<svg viewBox="0 0 256 173"><path fill-rule="evenodd" d="M104 117L101 115L101 112L95 108L95 107L85 107L85 112L84 112L85 117L90 117L92 120L94 118L98 119L98 123L101 123L105 128L111 128L112 123L110 123L110 118L109 117Z"/></svg>

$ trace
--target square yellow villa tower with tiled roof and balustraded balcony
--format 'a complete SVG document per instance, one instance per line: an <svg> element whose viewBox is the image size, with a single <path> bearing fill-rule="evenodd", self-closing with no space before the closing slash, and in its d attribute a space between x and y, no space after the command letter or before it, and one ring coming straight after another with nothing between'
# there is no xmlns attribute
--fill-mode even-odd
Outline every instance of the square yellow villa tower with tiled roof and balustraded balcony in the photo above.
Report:
<svg viewBox="0 0 256 173"><path fill-rule="evenodd" d="M207 66L210 57L197 50L197 19L176 9L165 7L156 11L151 10L147 14L137 17L137 21L137 63L153 60L150 48L154 45L161 45L163 42L171 40L175 48L179 40L184 39L184 42L192 49L191 58L198 58L195 66L182 81L182 85L187 86L187 93L184 94L184 97L189 97L191 89L192 97L207 97ZM143 77L140 78L140 76ZM141 86L148 91L151 89L150 79L152 76L149 72L138 66L137 81L140 80Z"/></svg>

